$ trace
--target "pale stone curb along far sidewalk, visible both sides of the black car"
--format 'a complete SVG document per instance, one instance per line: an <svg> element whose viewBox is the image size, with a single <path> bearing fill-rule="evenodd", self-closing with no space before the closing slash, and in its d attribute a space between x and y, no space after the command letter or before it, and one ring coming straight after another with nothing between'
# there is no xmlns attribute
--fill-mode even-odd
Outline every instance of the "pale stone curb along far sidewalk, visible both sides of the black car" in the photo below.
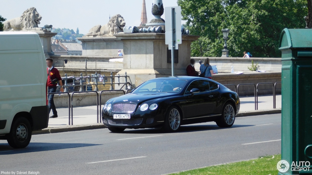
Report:
<svg viewBox="0 0 312 175"><path fill-rule="evenodd" d="M260 116L268 114L280 114L281 109L271 109L271 110L256 110L248 112L239 112L236 117L246 117L246 116ZM61 132L71 132L71 131L82 131L82 130L96 130L107 128L103 123L91 124L91 125L79 125L79 126L68 126L68 127L57 127L57 128L46 128L43 130L33 131L32 135L39 134L52 134L52 133L61 133Z"/></svg>

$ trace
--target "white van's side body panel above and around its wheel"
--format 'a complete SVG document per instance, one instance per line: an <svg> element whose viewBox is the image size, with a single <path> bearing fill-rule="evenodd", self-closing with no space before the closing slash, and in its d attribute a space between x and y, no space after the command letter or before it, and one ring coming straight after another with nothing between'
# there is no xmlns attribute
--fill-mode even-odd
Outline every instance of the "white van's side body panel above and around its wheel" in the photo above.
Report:
<svg viewBox="0 0 312 175"><path fill-rule="evenodd" d="M16 38L0 37L0 47L5 45L7 49L0 50L0 120L7 120L0 134L10 132L12 120L19 112L31 112L37 116L33 118L33 125L43 122L34 128L46 128L48 122L47 74L42 45L37 42L40 41L39 35L20 36L18 42Z"/></svg>

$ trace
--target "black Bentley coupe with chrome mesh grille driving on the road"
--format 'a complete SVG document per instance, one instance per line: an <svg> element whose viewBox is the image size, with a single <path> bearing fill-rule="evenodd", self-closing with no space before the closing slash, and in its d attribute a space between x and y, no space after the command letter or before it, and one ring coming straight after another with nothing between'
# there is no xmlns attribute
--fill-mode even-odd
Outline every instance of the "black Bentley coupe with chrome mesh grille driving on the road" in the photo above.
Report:
<svg viewBox="0 0 312 175"><path fill-rule="evenodd" d="M144 82L131 93L108 100L102 111L112 132L126 128L162 128L215 121L231 127L240 108L238 94L222 84L200 77L163 77Z"/></svg>

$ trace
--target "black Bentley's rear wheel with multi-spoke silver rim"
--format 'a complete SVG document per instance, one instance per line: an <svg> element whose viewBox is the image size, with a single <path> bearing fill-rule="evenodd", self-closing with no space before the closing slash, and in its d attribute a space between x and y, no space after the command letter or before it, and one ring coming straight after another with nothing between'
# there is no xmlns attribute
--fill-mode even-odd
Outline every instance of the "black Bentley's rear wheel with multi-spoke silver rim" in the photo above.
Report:
<svg viewBox="0 0 312 175"><path fill-rule="evenodd" d="M235 110L231 103L226 103L222 109L221 119L216 121L221 128L231 127L235 121Z"/></svg>

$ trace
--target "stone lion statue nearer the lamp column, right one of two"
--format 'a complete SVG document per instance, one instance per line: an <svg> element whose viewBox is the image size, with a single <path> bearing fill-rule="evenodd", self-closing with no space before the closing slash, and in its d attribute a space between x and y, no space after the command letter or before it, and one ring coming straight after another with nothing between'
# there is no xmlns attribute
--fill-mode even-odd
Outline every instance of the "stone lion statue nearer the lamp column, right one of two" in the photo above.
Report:
<svg viewBox="0 0 312 175"><path fill-rule="evenodd" d="M86 36L102 36L102 35L114 35L124 31L126 22L124 18L117 14L110 18L110 21L104 26L97 25L90 29Z"/></svg>

